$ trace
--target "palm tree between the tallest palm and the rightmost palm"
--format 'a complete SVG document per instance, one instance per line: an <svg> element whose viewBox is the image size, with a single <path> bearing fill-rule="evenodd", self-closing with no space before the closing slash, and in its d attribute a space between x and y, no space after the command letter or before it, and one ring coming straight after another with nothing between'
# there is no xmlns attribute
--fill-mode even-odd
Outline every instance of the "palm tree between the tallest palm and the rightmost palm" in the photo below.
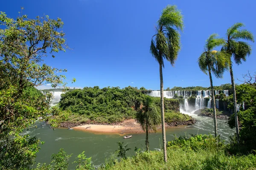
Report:
<svg viewBox="0 0 256 170"><path fill-rule="evenodd" d="M212 85L212 73L217 78L222 78L224 70L227 69L228 63L224 52L217 52L216 50L213 50L215 47L221 46L225 43L224 39L216 38L217 36L218 34L212 34L209 36L204 46L204 52L198 58L198 65L200 69L205 74L209 74L210 78L215 137L217 137L217 118L215 96Z"/></svg>

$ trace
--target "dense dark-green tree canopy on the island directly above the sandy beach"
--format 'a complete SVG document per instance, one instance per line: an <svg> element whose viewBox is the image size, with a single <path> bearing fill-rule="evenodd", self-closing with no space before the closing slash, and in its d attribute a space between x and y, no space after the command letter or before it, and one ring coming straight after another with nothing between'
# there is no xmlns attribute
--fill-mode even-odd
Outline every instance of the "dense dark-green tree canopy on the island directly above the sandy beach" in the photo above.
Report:
<svg viewBox="0 0 256 170"><path fill-rule="evenodd" d="M143 89L144 90L144 89ZM85 87L62 94L59 106L96 123L116 123L135 118L146 95L134 87Z"/></svg>

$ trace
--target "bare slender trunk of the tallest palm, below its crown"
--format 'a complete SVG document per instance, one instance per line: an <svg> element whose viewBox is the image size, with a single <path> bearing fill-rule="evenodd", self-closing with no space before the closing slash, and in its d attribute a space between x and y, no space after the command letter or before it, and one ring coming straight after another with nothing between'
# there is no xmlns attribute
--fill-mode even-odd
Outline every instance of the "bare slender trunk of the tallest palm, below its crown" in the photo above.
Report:
<svg viewBox="0 0 256 170"><path fill-rule="evenodd" d="M161 94L161 118L162 118L162 135L163 135L163 159L167 162L167 152L166 152L166 133L165 133L165 121L164 121L164 104L163 104L163 70L162 63L160 66L160 94Z"/></svg>

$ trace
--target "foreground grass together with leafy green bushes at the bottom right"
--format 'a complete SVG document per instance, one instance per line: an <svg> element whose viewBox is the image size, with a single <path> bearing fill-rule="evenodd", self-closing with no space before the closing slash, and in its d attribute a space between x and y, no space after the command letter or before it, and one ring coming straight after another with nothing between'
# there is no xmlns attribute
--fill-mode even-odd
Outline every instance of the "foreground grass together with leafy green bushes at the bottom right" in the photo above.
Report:
<svg viewBox="0 0 256 170"><path fill-rule="evenodd" d="M99 170L256 170L256 156L230 156L224 141L212 135L177 138L167 147L168 162L162 151L136 153L120 161L106 161Z"/></svg>

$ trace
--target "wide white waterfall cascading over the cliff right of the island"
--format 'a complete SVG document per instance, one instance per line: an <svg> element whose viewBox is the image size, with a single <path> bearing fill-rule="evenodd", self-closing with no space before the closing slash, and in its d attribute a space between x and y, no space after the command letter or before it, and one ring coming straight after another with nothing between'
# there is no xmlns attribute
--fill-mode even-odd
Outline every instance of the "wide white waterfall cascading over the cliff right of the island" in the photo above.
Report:
<svg viewBox="0 0 256 170"><path fill-rule="evenodd" d="M220 93L225 94L226 96L228 96L228 90L215 90L214 93L215 95L219 95ZM173 98L175 94L177 94L177 96L183 96L184 98L184 104L182 107L183 109L185 109L186 111L189 110L189 101L188 98L190 96L192 96L192 93L194 95L196 95L195 98L195 105L194 105L194 109L204 109L205 107L207 108L212 108L212 98L211 98L211 91L210 90L198 90L198 91L189 91L189 90L176 90L176 91L163 91L163 96L165 98ZM150 96L154 96L154 97L160 97L160 91L151 91L148 92L148 95ZM209 98L209 101L206 103L205 102L205 98ZM219 109L219 100L216 99L216 108ZM240 106L239 106L240 107Z"/></svg>

